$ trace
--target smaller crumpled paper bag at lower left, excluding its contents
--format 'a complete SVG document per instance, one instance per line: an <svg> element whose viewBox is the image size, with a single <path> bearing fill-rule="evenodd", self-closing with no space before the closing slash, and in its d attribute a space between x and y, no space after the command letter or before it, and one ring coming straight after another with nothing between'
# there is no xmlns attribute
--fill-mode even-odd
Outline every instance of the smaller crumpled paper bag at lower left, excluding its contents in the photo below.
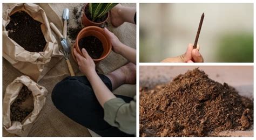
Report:
<svg viewBox="0 0 256 140"><path fill-rule="evenodd" d="M22 122L11 121L11 105L16 101L23 86L28 87L33 96L33 110ZM7 86L3 100L3 127L11 134L27 136L33 123L42 110L48 91L45 87L39 86L29 76L20 76Z"/></svg>

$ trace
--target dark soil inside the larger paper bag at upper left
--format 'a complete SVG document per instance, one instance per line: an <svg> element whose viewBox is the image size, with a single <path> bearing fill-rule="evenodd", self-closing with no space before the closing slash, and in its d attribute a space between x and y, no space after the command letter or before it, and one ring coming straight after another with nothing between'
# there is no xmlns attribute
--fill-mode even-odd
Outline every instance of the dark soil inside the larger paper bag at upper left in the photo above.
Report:
<svg viewBox="0 0 256 140"><path fill-rule="evenodd" d="M5 27L8 37L16 41L26 51L43 52L46 45L40 22L34 20L25 11L18 11L10 16L10 23Z"/></svg>

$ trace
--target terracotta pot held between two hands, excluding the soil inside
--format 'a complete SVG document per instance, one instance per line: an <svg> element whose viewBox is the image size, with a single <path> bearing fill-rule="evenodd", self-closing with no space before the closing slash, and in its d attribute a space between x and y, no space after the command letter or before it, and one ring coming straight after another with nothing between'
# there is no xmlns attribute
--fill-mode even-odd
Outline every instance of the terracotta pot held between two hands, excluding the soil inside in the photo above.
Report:
<svg viewBox="0 0 256 140"><path fill-rule="evenodd" d="M97 63L97 62L105 59L107 57L107 55L109 55L109 53L112 49L111 41L109 39L109 36L107 36L107 34L104 32L104 30L102 28L97 27L97 26L85 27L78 33L75 44L73 45L73 47L76 48L76 51L78 53L80 53L81 55L83 55L83 54L82 54L82 50L80 50L78 42L81 38L89 37L89 36L95 36L102 42L102 45L103 45L103 53L100 56L100 58L92 59L95 63ZM76 61L76 57L73 54L73 48L71 50L72 50L72 56L73 56L74 60Z"/></svg>

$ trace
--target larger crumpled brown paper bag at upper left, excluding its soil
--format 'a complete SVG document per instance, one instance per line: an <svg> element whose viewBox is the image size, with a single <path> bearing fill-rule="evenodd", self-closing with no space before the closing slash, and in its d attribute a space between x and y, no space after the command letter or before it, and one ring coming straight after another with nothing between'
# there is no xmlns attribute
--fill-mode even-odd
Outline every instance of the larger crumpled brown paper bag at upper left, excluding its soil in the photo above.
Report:
<svg viewBox="0 0 256 140"><path fill-rule="evenodd" d="M25 11L37 22L42 23L41 30L46 41L42 52L26 51L24 49L25 46L19 45L16 41L8 37L9 31L6 30L6 26L11 21L10 16L18 11ZM28 3L14 4L3 12L3 57L12 66L25 75L30 76L35 81L39 81L50 70L52 67L49 66L51 65L51 59L60 60L62 58L57 41L52 35L48 18L40 6Z"/></svg>

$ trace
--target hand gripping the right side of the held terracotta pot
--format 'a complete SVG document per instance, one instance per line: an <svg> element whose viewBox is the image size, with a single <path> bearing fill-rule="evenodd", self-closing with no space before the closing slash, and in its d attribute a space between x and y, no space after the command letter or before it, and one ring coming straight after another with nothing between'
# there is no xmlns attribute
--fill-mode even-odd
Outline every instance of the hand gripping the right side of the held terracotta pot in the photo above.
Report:
<svg viewBox="0 0 256 140"><path fill-rule="evenodd" d="M117 38L116 35L114 35L114 33L110 32L109 30L107 30L107 28L104 28L105 33L107 34L107 36L109 36L109 39L111 41L111 44L113 46L113 51L116 53L120 53L123 43L120 42L120 40Z"/></svg>

